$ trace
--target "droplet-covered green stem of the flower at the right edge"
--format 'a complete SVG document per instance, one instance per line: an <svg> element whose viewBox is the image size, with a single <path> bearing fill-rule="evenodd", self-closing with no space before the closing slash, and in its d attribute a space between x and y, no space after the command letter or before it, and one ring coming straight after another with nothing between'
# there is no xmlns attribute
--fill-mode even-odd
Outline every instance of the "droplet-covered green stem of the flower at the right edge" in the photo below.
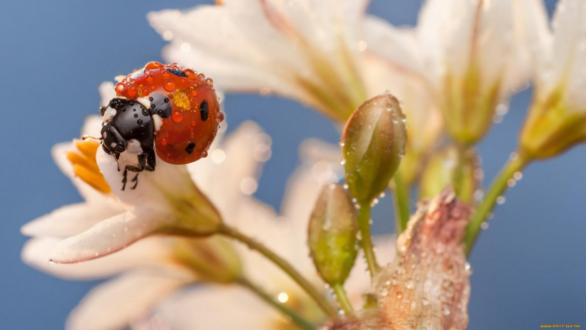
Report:
<svg viewBox="0 0 586 330"><path fill-rule="evenodd" d="M482 203L478 205L476 213L473 215L468 227L466 227L466 236L464 237L464 242L466 243L466 255L470 254L472 246L480 233L481 225L486 219L486 215L493 207L495 207L498 197L502 196L509 187L509 179L511 179L516 172L523 170L529 162L529 158L523 154L517 153L517 157L507 161L505 166L503 166L503 169L500 170L498 176L492 181L490 187L485 193Z"/></svg>

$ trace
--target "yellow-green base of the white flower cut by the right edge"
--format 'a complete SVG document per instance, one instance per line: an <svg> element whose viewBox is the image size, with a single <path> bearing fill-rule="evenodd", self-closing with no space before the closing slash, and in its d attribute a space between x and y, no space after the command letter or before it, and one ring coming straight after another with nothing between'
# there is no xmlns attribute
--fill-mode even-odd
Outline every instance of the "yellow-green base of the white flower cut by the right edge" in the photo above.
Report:
<svg viewBox="0 0 586 330"><path fill-rule="evenodd" d="M573 109L560 89L538 97L520 135L520 149L530 159L556 156L586 141L584 109Z"/></svg>

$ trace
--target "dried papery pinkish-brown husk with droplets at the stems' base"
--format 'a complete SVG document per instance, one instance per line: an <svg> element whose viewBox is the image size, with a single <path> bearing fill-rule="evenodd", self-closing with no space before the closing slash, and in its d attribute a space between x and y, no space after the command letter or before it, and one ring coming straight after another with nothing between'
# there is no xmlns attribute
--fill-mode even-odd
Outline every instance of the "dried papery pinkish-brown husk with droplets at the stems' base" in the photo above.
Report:
<svg viewBox="0 0 586 330"><path fill-rule="evenodd" d="M376 277L379 308L324 329L466 329L471 268L462 238L470 211L451 189L421 206L397 239L398 257Z"/></svg>

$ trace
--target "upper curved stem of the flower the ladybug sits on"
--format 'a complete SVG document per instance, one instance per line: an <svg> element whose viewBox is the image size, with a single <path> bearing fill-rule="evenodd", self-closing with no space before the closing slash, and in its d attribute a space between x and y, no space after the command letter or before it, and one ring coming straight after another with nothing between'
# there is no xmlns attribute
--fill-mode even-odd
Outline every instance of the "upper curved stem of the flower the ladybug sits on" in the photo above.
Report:
<svg viewBox="0 0 586 330"><path fill-rule="evenodd" d="M272 252L270 249L265 247L263 244L258 243L257 241L253 240L252 238L240 233L240 231L236 230L236 228L229 227L228 225L224 224L219 230L219 234L226 235L227 237L234 238L234 240L240 241L243 244L248 245L249 248L259 252L260 254L264 255L268 260L274 262L275 265L281 268L282 271L287 273L289 277L292 278L301 288L307 292L309 297L313 298L316 304L325 312L326 315L329 316L336 316L338 313L336 309L332 307L323 297L323 295L309 283L308 280L305 279L295 268L293 268L287 261L283 258L279 257L275 252Z"/></svg>

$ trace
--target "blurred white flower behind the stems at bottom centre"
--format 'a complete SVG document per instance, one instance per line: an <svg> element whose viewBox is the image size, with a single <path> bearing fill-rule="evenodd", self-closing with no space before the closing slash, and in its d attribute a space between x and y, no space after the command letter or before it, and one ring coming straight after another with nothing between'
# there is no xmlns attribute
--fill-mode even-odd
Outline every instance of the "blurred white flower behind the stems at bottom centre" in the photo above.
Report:
<svg viewBox="0 0 586 330"><path fill-rule="evenodd" d="M289 179L287 193L282 203L280 217L275 220L271 210L254 208L255 221L240 223L244 233L250 233L265 243L316 285L319 280L315 267L309 258L306 246L307 225L314 202L322 184L337 181L342 175L338 162L337 147L309 140L301 147L302 164ZM246 211L244 211L246 212ZM394 255L394 240L390 237L377 238L377 256L386 264ZM323 322L325 316L316 305L281 270L270 262L243 247L243 264L248 277L260 284L267 292L299 314L314 322ZM359 255L352 274L346 281L347 294L356 309L362 308L362 294L370 291L370 278L366 273L366 262ZM237 286L212 285L193 288L170 299L162 305L149 322L138 326L138 330L154 330L153 324L161 322L172 329L255 329L277 330L287 328L288 322L274 308Z"/></svg>

